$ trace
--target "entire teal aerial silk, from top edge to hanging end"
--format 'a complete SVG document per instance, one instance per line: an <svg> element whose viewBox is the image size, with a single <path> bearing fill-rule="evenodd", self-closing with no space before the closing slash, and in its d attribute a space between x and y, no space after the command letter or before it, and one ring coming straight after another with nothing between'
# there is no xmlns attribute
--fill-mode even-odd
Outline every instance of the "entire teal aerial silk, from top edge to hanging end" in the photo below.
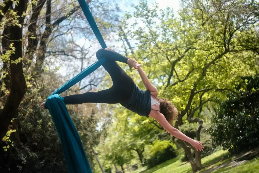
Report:
<svg viewBox="0 0 259 173"><path fill-rule="evenodd" d="M100 33L95 20L89 10L89 7L85 0L78 0L85 17L87 18L93 33L98 39L100 45L103 49L107 46L104 42L102 34ZM66 84L61 86L55 92L53 92L46 100L44 105L45 109L49 110L52 116L52 120L59 134L59 138L62 144L63 153L66 160L66 165L69 173L92 173L90 164L85 154L83 144L81 142L80 136L71 120L67 107L63 102L63 98L59 96L60 93L66 91L68 88L75 85L77 82L85 78L87 75L99 68L105 59L101 59L96 63L92 64L90 67L79 73L76 77L69 80Z"/></svg>

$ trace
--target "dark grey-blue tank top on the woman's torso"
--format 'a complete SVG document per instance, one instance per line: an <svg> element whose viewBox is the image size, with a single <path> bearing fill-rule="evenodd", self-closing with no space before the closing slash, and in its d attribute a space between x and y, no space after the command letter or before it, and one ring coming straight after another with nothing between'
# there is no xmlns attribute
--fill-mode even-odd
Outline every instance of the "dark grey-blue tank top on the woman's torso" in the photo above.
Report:
<svg viewBox="0 0 259 173"><path fill-rule="evenodd" d="M120 104L140 116L148 117L151 111L151 93L140 89L135 84L131 97Z"/></svg>

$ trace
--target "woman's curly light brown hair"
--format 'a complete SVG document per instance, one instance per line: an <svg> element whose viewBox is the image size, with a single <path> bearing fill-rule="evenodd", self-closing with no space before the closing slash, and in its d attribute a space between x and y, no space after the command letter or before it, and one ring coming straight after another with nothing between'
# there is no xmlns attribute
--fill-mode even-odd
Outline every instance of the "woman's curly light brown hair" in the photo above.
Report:
<svg viewBox="0 0 259 173"><path fill-rule="evenodd" d="M166 117L166 120L172 124L174 120L177 121L178 110L171 102L167 99L159 99L160 113Z"/></svg>

